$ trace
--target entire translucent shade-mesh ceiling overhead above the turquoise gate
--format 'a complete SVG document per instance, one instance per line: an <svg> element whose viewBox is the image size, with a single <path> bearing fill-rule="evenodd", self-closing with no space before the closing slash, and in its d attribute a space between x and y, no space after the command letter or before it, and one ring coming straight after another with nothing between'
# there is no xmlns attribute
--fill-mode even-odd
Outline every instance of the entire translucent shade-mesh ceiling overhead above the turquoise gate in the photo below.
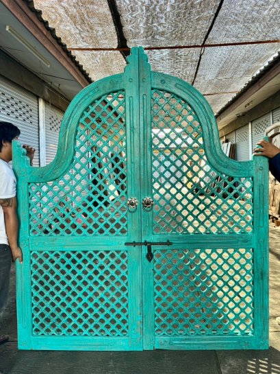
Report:
<svg viewBox="0 0 280 374"><path fill-rule="evenodd" d="M279 3L270 0L34 0L93 80L120 73L125 60L116 47L162 47L149 52L151 66L192 83L218 112L280 48L280 43L196 47L203 43L279 40ZM221 6L220 6L221 5ZM220 7L220 8L219 8ZM112 8L115 8L112 10ZM177 46L170 51L164 47ZM102 50L104 49L104 50ZM201 62L199 63L199 57Z"/></svg>

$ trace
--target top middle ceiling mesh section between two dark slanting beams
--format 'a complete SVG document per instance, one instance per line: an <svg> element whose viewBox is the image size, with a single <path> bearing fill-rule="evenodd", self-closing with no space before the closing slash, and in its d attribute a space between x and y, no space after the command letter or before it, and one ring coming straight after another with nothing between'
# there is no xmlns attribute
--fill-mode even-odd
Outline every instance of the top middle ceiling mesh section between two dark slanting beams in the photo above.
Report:
<svg viewBox="0 0 280 374"><path fill-rule="evenodd" d="M116 1L129 47L203 43L219 2Z"/></svg>

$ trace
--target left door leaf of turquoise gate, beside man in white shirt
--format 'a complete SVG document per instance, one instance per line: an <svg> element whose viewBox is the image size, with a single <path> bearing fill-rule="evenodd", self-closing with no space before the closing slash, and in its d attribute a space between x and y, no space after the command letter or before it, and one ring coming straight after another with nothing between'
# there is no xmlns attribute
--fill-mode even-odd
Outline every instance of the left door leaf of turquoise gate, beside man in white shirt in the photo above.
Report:
<svg viewBox="0 0 280 374"><path fill-rule="evenodd" d="M29 167L14 145L20 349L142 349L141 247L125 246L141 241L133 63L75 97L52 163Z"/></svg>

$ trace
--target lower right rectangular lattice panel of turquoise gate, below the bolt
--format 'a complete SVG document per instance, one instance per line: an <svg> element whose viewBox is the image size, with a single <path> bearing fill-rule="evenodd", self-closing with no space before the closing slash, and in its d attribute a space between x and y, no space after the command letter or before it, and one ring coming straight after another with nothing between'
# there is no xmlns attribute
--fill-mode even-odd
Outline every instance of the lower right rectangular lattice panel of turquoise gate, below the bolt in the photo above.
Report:
<svg viewBox="0 0 280 374"><path fill-rule="evenodd" d="M253 250L155 251L157 336L253 335Z"/></svg>

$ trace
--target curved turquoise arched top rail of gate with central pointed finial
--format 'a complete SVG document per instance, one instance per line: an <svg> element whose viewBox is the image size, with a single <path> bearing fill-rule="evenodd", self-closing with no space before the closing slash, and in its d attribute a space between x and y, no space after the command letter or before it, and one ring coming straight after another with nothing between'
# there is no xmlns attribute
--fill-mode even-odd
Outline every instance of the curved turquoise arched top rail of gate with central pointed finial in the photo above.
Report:
<svg viewBox="0 0 280 374"><path fill-rule="evenodd" d="M126 100L129 101L129 97L139 95L139 89L140 95L144 95L146 100L151 100L151 89L169 91L185 100L194 110L196 119L201 124L207 159L212 160L215 167L225 174L240 177L253 176L253 161L243 161L242 163L233 161L222 152L214 113L199 91L177 77L151 71L147 55L144 54L142 47L133 47L127 62L128 65L125 67L124 73L93 82L75 96L62 119L58 153L55 159L44 167L27 167L30 181L39 183L53 180L68 169L73 159L77 126L79 126L83 113L94 100L98 100L106 93L124 90L127 96ZM142 110L141 102L140 110ZM21 153L21 147L19 146L18 151L15 150L15 152ZM255 162L266 162L263 158L261 159L258 158Z"/></svg>

